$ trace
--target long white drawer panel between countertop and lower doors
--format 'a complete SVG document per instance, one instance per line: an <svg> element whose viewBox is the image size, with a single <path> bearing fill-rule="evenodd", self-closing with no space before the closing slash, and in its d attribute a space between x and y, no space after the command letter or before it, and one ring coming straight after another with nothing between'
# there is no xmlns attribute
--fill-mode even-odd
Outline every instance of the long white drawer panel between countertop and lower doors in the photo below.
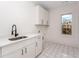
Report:
<svg viewBox="0 0 79 59"><path fill-rule="evenodd" d="M35 42L35 38L31 38L31 39L28 39L28 40L26 39L26 40L23 40L23 41L20 41L20 42L17 42L17 43L7 45L7 46L2 48L2 56L6 55L8 53L11 53L12 51L15 51L15 50L22 48L24 46L27 46L27 45L29 45L33 42Z"/></svg>

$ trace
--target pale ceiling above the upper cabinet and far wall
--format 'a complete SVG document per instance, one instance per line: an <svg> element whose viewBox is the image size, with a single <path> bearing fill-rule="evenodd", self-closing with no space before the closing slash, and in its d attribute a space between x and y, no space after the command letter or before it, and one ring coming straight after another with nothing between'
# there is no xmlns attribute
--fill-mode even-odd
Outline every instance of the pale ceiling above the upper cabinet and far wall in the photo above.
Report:
<svg viewBox="0 0 79 59"><path fill-rule="evenodd" d="M41 5L46 9L54 9L62 6L79 4L79 1L34 1L34 3Z"/></svg>

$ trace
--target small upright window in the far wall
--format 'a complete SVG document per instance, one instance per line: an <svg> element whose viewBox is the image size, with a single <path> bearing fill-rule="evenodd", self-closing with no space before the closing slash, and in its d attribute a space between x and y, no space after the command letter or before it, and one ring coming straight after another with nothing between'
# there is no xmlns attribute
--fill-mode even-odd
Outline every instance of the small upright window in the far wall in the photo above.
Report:
<svg viewBox="0 0 79 59"><path fill-rule="evenodd" d="M72 14L62 15L62 33L72 34Z"/></svg>

